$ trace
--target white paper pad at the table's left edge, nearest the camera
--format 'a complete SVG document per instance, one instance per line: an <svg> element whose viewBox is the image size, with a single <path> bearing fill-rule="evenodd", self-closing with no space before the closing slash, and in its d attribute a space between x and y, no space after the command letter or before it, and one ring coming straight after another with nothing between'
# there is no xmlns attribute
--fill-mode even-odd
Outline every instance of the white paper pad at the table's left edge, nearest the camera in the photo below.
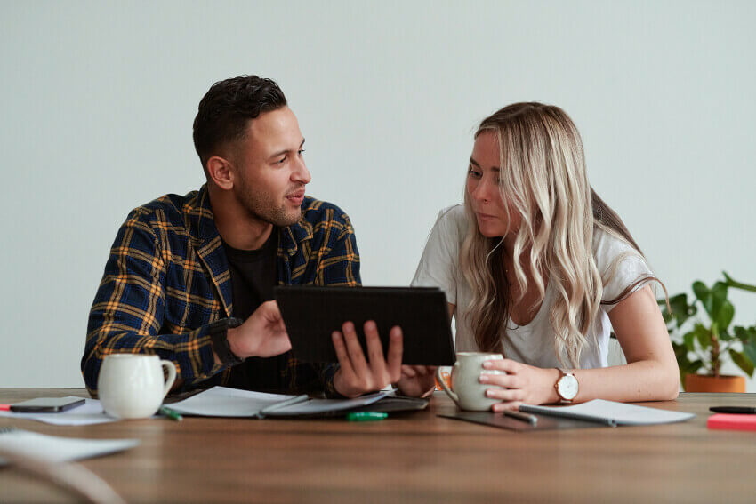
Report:
<svg viewBox="0 0 756 504"><path fill-rule="evenodd" d="M0 449L50 462L81 460L122 452L139 444L139 439L81 439L46 436L20 428L0 428ZM7 462L0 458L0 466Z"/></svg>

